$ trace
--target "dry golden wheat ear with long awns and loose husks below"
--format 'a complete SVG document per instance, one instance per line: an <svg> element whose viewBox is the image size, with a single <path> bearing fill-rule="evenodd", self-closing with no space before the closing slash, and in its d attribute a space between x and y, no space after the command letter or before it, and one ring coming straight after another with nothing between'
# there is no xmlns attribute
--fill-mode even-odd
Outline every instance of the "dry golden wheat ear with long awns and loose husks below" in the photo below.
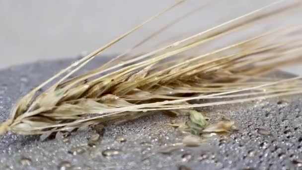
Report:
<svg viewBox="0 0 302 170"><path fill-rule="evenodd" d="M154 51L136 57L128 55L131 49L178 21L175 20L103 66L69 79L99 53L184 2L177 1L30 91L15 104L9 119L0 124L0 134L73 130L86 125L136 119L152 114L154 110L190 114L188 127L195 134L229 131L233 127L232 121L211 124L204 115L192 109L302 93L301 77L276 80L263 76L279 67L302 61L302 39L289 38L297 35L301 27L278 27L206 53L198 49L255 24L276 19L301 5L295 3L268 10L282 1ZM187 55L190 51L193 53ZM62 78L49 89L37 94L39 89L59 77ZM200 99L203 103L193 102Z"/></svg>

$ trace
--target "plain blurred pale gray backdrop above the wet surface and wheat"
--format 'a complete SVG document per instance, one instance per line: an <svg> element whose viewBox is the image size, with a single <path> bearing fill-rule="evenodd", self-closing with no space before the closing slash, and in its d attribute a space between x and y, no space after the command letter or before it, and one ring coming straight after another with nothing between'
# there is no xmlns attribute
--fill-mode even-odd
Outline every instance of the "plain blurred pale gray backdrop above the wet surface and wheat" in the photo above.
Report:
<svg viewBox="0 0 302 170"><path fill-rule="evenodd" d="M90 52L175 1L0 0L0 68L37 60L76 57ZM207 6L163 32L149 44L183 33L189 35L205 30L272 1L275 0L187 0L104 54L123 52L156 28L164 26L167 21L203 4ZM141 50L148 47L147 44Z"/></svg>

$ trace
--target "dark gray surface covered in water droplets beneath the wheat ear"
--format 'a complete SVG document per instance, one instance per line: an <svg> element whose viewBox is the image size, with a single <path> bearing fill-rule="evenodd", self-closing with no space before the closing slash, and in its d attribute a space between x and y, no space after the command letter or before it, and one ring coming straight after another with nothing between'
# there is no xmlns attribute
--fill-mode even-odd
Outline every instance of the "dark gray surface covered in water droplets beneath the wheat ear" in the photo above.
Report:
<svg viewBox="0 0 302 170"><path fill-rule="evenodd" d="M7 118L16 99L71 61L38 62L0 71L0 121ZM103 61L98 58L86 69ZM298 170L302 169L301 101L302 96L296 95L204 108L209 115L224 112L231 116L241 130L170 154L159 151L183 137L165 124L186 117L153 113L109 125L99 142L91 129L46 141L5 134L0 137L0 170Z"/></svg>

